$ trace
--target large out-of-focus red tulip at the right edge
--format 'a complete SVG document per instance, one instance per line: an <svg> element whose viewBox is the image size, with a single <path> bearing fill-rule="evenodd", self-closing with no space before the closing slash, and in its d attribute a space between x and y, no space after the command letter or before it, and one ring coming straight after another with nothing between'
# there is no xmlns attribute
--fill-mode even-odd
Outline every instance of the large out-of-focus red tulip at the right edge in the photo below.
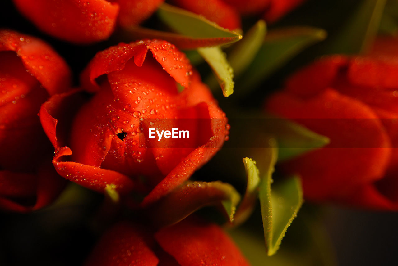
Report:
<svg viewBox="0 0 398 266"><path fill-rule="evenodd" d="M398 61L379 55L321 58L267 101L331 140L284 165L301 175L307 199L398 209Z"/></svg>

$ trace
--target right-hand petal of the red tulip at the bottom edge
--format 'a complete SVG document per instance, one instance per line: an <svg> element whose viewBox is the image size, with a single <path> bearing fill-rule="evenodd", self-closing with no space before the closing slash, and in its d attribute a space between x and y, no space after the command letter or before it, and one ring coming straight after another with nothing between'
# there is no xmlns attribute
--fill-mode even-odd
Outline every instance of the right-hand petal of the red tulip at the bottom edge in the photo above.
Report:
<svg viewBox="0 0 398 266"><path fill-rule="evenodd" d="M230 237L214 224L185 219L161 229L155 238L181 266L249 265Z"/></svg>

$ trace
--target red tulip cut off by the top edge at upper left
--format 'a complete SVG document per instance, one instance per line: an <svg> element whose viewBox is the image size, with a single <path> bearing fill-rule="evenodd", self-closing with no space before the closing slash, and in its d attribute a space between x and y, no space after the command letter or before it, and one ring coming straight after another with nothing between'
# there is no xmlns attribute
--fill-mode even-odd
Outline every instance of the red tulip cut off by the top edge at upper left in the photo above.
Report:
<svg viewBox="0 0 398 266"><path fill-rule="evenodd" d="M14 0L18 10L45 33L77 44L107 39L117 23L137 25L164 0Z"/></svg>

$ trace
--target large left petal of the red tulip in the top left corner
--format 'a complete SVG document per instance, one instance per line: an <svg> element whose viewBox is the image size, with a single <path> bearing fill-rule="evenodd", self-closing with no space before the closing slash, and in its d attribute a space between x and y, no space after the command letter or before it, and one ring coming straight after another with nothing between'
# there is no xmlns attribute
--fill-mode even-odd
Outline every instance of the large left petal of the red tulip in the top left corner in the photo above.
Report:
<svg viewBox="0 0 398 266"><path fill-rule="evenodd" d="M18 10L39 29L78 44L107 39L119 6L105 0L14 0Z"/></svg>

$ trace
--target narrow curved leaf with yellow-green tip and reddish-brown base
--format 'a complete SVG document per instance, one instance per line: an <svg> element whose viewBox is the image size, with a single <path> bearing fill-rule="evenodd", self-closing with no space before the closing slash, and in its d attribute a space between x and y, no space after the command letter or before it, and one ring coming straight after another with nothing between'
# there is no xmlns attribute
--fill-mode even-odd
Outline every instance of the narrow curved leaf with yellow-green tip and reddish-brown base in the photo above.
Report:
<svg viewBox="0 0 398 266"><path fill-rule="evenodd" d="M256 161L246 157L243 158L243 163L246 170L247 185L246 192L236 210L234 217L234 226L238 226L245 222L250 214L252 214L254 206L256 206L258 186L260 184L259 171L256 167Z"/></svg>

